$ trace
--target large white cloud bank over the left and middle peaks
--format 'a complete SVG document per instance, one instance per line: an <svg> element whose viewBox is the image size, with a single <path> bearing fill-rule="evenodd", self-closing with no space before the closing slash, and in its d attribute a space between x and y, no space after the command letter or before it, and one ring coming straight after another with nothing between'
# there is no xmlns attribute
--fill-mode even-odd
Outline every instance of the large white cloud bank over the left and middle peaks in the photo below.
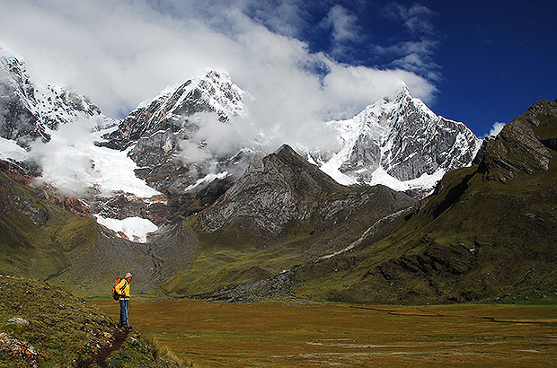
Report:
<svg viewBox="0 0 557 368"><path fill-rule="evenodd" d="M323 120L356 114L393 92L400 80L416 97L431 101L435 87L402 70L408 60L377 70L312 53L294 37L302 22L295 2L274 3L276 16L254 0L204 6L192 0L0 0L0 45L26 57L36 79L84 92L113 117L207 68L225 71L255 98L245 123L251 136L265 136L277 147L297 139L313 145L332 139ZM279 29L290 15L294 21ZM329 18L339 43L357 37L353 14L334 6ZM186 148L195 153L195 147Z"/></svg>

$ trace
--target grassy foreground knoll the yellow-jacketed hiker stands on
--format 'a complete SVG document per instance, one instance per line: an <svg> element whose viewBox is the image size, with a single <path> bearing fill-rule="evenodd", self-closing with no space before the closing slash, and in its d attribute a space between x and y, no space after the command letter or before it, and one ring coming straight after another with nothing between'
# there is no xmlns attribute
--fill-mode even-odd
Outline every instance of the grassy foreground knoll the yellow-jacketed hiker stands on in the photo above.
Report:
<svg viewBox="0 0 557 368"><path fill-rule="evenodd" d="M14 320L15 319L15 320ZM0 276L0 367L175 367L136 332L48 283Z"/></svg>

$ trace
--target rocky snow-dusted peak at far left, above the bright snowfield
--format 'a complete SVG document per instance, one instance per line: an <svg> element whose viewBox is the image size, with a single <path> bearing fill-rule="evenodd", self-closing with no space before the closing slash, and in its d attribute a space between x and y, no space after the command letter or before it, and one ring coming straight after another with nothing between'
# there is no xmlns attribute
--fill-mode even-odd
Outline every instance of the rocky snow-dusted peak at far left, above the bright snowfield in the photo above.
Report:
<svg viewBox="0 0 557 368"><path fill-rule="evenodd" d="M38 137L48 142L49 129L82 117L93 129L116 124L79 93L33 83L25 62L0 48L0 136L22 146Z"/></svg>

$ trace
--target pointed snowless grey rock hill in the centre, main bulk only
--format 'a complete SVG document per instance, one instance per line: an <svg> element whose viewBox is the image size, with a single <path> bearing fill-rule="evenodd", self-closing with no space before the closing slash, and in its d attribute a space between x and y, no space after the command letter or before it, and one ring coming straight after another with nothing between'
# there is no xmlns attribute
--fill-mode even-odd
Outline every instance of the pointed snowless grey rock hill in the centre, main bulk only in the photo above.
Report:
<svg viewBox="0 0 557 368"><path fill-rule="evenodd" d="M273 237L292 219L308 220L321 200L340 185L283 145L277 153L253 160L243 176L199 215L205 232L241 219Z"/></svg>

